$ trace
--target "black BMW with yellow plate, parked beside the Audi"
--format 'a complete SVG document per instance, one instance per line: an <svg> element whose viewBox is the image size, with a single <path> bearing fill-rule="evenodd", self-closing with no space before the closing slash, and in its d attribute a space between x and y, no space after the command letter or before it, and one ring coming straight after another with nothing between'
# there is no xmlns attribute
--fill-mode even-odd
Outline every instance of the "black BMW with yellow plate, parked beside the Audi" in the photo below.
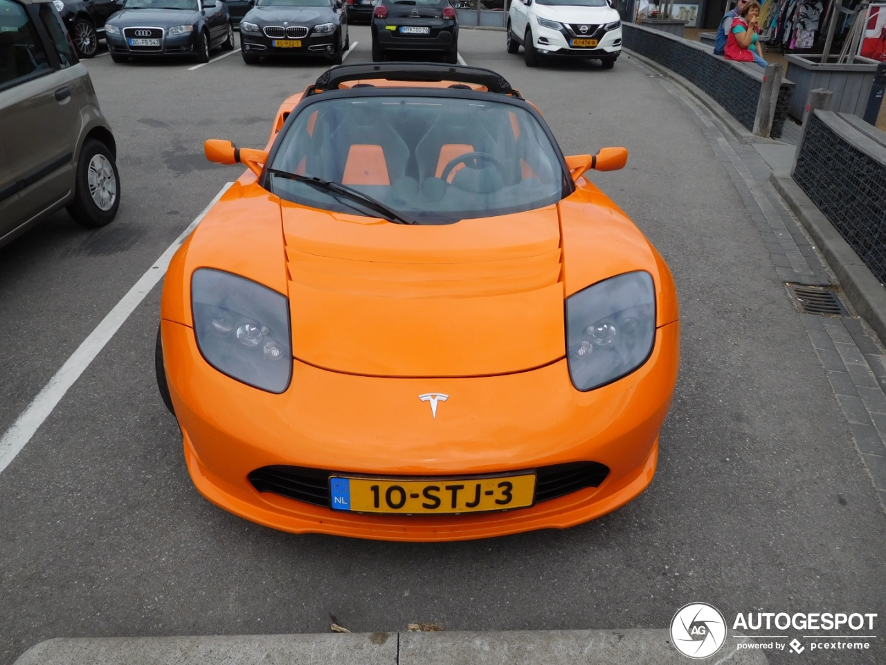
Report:
<svg viewBox="0 0 886 665"><path fill-rule="evenodd" d="M350 46L341 0L258 0L240 21L243 61L262 56L328 56L336 65Z"/></svg>

